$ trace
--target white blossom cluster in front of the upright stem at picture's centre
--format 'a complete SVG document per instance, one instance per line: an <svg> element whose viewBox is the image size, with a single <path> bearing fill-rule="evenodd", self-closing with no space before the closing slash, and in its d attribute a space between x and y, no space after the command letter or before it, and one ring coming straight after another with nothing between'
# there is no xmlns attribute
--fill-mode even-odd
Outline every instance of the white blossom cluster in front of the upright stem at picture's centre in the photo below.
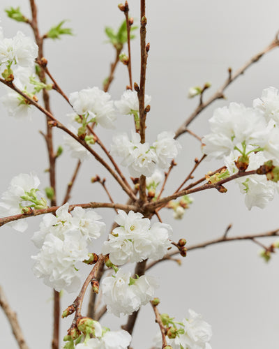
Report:
<svg viewBox="0 0 279 349"><path fill-rule="evenodd" d="M123 158L121 165L128 167L133 177L141 174L150 177L159 168L169 168L172 158L176 158L181 149L179 142L174 140L174 133L163 131L157 136L156 142L149 146L141 143L139 133L131 132L131 140L127 133L115 135L112 139L111 153Z"/></svg>

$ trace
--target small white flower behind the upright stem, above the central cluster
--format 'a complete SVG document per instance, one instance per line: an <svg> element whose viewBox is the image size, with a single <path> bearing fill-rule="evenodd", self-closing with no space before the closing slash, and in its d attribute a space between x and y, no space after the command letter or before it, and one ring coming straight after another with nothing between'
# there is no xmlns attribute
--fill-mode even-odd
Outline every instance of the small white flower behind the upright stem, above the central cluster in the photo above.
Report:
<svg viewBox="0 0 279 349"><path fill-rule="evenodd" d="M149 105L151 97L147 94L144 96L144 107ZM115 101L115 106L119 112L123 115L133 114L139 112L139 100L137 98L137 92L128 89L121 96L121 101Z"/></svg>

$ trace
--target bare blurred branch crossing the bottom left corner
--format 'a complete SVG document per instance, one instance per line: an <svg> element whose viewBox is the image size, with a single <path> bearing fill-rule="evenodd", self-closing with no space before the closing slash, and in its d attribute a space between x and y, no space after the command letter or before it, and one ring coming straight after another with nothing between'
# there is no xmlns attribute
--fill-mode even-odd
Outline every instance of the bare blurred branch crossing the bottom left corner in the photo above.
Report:
<svg viewBox="0 0 279 349"><path fill-rule="evenodd" d="M8 304L8 300L6 299L6 295L3 292L3 289L0 286L0 306L3 309L3 312L6 314L6 317L8 318L8 322L10 322L10 326L13 330L13 335L15 336L15 340L17 341L18 346L20 349L29 349L29 346L27 346L27 343L25 342L22 329L20 327L20 324L17 320L17 314L15 311L13 311L10 308L10 305Z"/></svg>

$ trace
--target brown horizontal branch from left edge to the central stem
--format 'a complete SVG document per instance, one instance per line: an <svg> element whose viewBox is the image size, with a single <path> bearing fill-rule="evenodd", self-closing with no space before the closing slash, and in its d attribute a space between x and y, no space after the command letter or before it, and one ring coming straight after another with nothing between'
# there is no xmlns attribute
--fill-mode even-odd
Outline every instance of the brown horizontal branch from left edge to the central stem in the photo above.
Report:
<svg viewBox="0 0 279 349"><path fill-rule="evenodd" d="M13 221L18 221L19 219L40 216L41 214L51 214L54 213L61 206L52 206L47 209L30 209L27 214L15 214L14 216L8 216L0 218L0 227L5 225L6 223L10 223ZM76 204L70 205L69 211L73 211L75 207L82 207L83 209L98 209L98 208L110 208L110 209L123 209L123 211L137 210L137 206L135 205L125 205L125 204L115 204L112 202L89 202L86 204Z"/></svg>

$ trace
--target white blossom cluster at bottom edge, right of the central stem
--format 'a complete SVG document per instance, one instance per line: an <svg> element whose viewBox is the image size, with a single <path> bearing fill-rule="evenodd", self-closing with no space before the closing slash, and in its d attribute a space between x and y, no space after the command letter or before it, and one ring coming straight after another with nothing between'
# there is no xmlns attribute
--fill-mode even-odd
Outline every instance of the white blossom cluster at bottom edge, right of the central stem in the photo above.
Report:
<svg viewBox="0 0 279 349"><path fill-rule="evenodd" d="M211 349L209 343L212 336L211 325L203 320L201 314L192 309L189 309L189 315L182 322L171 322L175 327L170 327L167 332L169 334L166 336L167 345L172 346L172 349ZM178 329L177 324L181 325L181 328ZM160 333L157 334L155 341L155 348L162 348Z"/></svg>

